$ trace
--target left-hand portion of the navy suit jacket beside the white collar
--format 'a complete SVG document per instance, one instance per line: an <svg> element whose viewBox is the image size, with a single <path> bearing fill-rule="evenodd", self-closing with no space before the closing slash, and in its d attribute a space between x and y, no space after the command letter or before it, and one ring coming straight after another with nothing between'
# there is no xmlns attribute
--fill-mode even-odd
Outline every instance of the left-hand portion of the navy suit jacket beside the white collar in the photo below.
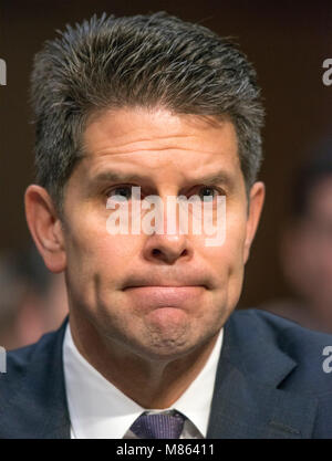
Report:
<svg viewBox="0 0 332 461"><path fill-rule="evenodd" d="M66 323L34 344L7 353L7 369L0 374L0 438L68 432L62 363Z"/></svg>

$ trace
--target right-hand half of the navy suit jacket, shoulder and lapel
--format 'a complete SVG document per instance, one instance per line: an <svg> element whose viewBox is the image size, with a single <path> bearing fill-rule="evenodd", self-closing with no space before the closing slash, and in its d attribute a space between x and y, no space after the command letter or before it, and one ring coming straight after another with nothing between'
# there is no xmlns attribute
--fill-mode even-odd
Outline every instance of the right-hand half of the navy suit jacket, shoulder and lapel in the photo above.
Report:
<svg viewBox="0 0 332 461"><path fill-rule="evenodd" d="M209 436L331 438L332 335L259 310L236 311L224 328ZM225 423L227 421L227 423Z"/></svg>

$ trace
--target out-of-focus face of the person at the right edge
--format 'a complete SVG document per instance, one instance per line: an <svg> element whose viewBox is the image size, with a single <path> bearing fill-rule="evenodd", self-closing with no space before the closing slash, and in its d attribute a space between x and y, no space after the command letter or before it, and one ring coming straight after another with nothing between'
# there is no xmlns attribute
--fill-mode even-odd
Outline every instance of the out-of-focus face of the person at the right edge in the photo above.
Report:
<svg viewBox="0 0 332 461"><path fill-rule="evenodd" d="M332 177L309 195L305 216L282 241L283 270L309 305L331 310L332 298Z"/></svg>

